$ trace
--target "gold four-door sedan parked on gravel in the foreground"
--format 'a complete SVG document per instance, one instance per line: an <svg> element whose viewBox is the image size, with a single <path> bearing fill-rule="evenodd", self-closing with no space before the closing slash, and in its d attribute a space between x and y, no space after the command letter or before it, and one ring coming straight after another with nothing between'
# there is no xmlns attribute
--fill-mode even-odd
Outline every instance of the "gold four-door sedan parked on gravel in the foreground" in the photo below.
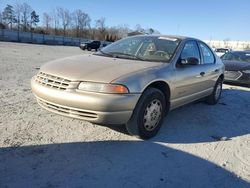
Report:
<svg viewBox="0 0 250 188"><path fill-rule="evenodd" d="M97 124L125 124L131 135L156 135L169 110L205 98L216 104L224 64L204 42L134 36L92 55L51 61L32 78L38 103Z"/></svg>

